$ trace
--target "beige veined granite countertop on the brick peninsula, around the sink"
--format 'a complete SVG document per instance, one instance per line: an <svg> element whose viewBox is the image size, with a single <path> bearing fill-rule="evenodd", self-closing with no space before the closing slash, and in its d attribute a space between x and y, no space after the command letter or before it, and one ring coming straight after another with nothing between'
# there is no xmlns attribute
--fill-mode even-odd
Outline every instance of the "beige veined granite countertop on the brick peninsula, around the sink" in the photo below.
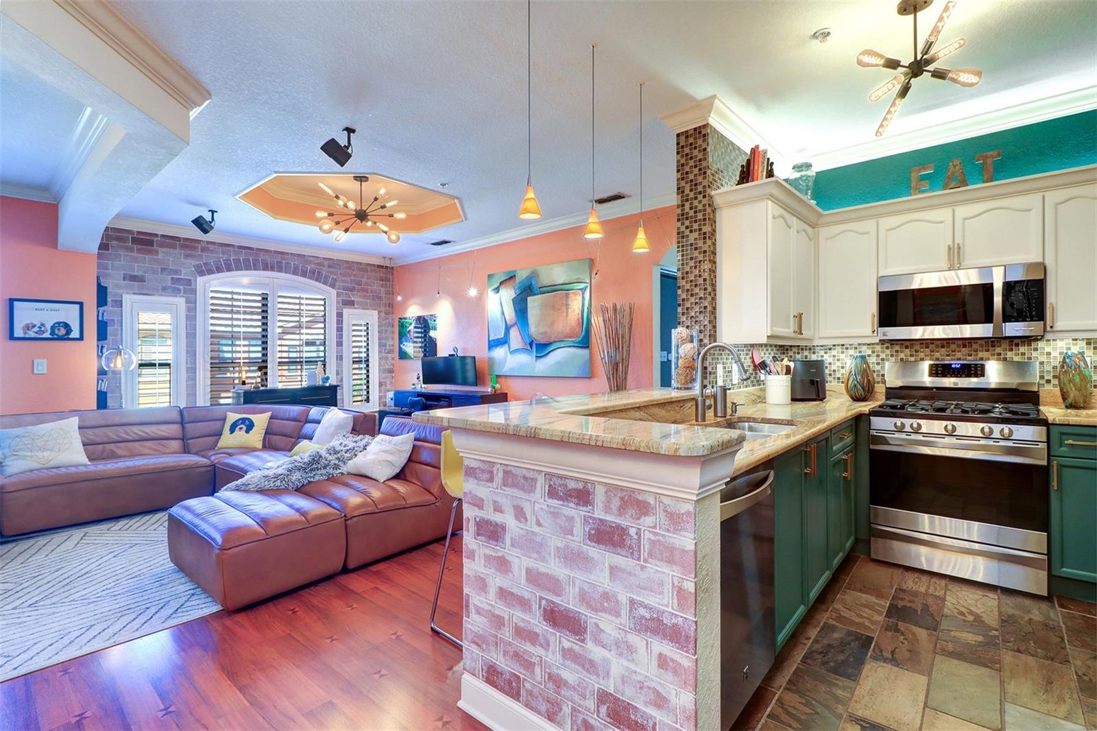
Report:
<svg viewBox="0 0 1097 731"><path fill-rule="evenodd" d="M742 443L735 458L738 474L868 412L881 394L873 401L853 402L838 386L829 390L826 401L788 406L760 403L762 397L762 389L730 392L728 400L740 404L738 415L719 420L710 417L703 426L688 420L688 416L677 424L656 420L661 418L658 412L692 413L693 393L672 389L462 406L419 412L415 419L460 429L680 457L713 454ZM736 420L789 424L793 428L765 439L746 440L734 428Z"/></svg>

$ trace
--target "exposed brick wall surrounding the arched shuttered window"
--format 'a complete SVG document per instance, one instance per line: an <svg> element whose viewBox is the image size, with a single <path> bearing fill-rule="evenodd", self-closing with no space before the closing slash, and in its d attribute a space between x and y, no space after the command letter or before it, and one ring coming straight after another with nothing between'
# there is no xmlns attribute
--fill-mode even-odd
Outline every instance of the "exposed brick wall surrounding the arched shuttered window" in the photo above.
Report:
<svg viewBox="0 0 1097 731"><path fill-rule="evenodd" d="M342 311L377 311L378 398L393 385L393 269L381 265L289 254L217 240L108 228L99 245L98 274L106 285L108 342L122 341L122 295L182 296L186 303L186 405L197 403L197 278L229 271L293 274L336 290L336 353L327 371L342 382ZM340 394L341 396L341 394ZM122 379L108 376L108 404L122 404Z"/></svg>

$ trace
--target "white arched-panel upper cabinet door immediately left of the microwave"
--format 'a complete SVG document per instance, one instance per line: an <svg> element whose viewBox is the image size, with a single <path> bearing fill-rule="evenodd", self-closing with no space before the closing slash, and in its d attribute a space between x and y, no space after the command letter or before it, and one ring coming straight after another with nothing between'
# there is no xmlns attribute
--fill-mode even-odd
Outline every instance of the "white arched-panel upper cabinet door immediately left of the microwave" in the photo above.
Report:
<svg viewBox="0 0 1097 731"><path fill-rule="evenodd" d="M818 229L821 338L875 333L877 222Z"/></svg>

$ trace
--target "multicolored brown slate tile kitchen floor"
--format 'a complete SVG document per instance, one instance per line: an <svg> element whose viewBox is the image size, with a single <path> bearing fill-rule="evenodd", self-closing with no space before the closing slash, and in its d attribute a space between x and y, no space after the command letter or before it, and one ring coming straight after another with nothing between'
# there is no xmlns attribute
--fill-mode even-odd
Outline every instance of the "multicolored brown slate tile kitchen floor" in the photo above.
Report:
<svg viewBox="0 0 1097 731"><path fill-rule="evenodd" d="M1097 605L851 554L734 728L1097 729Z"/></svg>

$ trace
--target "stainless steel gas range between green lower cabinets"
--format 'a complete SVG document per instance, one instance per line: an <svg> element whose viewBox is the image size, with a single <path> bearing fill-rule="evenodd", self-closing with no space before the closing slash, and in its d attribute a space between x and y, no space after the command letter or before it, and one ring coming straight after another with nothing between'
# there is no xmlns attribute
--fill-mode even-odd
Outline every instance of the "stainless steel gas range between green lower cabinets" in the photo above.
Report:
<svg viewBox="0 0 1097 731"><path fill-rule="evenodd" d="M869 412L872 558L1048 593L1038 363L889 362Z"/></svg>

